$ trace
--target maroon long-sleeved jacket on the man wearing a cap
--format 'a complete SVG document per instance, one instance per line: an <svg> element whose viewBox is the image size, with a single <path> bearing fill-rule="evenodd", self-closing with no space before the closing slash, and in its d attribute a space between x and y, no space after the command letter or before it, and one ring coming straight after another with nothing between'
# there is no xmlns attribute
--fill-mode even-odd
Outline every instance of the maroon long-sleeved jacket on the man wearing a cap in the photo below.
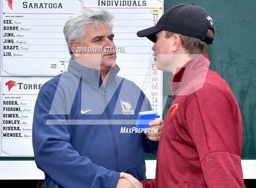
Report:
<svg viewBox="0 0 256 188"><path fill-rule="evenodd" d="M166 114L154 180L143 187L244 187L242 119L228 84L208 70L204 55L169 82L174 98Z"/></svg>

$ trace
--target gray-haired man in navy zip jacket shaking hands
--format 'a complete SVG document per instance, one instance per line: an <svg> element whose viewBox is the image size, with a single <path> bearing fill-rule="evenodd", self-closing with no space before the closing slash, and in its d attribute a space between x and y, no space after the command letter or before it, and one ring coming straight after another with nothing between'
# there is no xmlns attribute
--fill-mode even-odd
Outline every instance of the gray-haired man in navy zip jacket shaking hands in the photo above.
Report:
<svg viewBox="0 0 256 188"><path fill-rule="evenodd" d="M83 10L64 26L68 71L43 85L34 110L35 162L46 187L132 187L120 172L146 180L144 152L157 152L162 119L148 133L122 133L151 104L116 75L111 20L104 10Z"/></svg>

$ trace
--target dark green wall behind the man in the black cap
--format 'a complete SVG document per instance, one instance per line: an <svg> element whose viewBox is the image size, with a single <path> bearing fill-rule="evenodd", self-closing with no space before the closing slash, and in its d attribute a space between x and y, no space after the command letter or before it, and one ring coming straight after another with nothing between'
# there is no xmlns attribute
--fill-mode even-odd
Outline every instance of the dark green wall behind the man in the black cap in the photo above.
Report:
<svg viewBox="0 0 256 188"><path fill-rule="evenodd" d="M243 159L256 159L256 1L165 1L194 3L213 18L215 42L208 49L210 69L226 79L243 116ZM163 74L163 101L171 95Z"/></svg>

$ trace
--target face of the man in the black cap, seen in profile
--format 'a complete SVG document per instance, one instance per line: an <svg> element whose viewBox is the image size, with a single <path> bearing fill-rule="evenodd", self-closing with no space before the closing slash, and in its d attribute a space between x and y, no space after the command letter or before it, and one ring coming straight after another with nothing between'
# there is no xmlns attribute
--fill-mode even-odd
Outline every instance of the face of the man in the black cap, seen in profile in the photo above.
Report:
<svg viewBox="0 0 256 188"><path fill-rule="evenodd" d="M154 61L157 69L164 70L169 72L168 67L172 58L172 50L171 50L171 38L165 38L165 30L158 32L156 34L157 42L152 47L154 51Z"/></svg>

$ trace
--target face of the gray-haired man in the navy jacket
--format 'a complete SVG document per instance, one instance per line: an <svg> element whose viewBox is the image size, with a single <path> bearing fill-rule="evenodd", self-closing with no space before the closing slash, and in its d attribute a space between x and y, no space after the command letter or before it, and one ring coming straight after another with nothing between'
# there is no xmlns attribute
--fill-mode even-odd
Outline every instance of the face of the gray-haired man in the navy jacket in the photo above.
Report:
<svg viewBox="0 0 256 188"><path fill-rule="evenodd" d="M79 47L76 49L78 51L76 53L79 53L79 58L85 62L87 67L108 71L115 66L116 62L116 52L113 52L113 48L115 48L113 37L109 25L99 24L95 27L93 23L88 24L85 26L84 37L78 42Z"/></svg>

